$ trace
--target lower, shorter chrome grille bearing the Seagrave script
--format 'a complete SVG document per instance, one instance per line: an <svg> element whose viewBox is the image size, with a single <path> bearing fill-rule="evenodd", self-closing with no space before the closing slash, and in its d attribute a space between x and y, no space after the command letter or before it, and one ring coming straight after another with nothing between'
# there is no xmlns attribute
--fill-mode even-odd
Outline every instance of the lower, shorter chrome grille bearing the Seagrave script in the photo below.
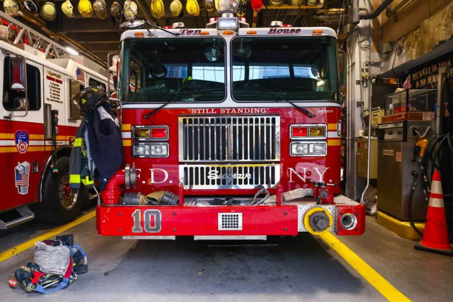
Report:
<svg viewBox="0 0 453 302"><path fill-rule="evenodd" d="M280 181L280 165L179 165L179 179L185 189L272 188Z"/></svg>

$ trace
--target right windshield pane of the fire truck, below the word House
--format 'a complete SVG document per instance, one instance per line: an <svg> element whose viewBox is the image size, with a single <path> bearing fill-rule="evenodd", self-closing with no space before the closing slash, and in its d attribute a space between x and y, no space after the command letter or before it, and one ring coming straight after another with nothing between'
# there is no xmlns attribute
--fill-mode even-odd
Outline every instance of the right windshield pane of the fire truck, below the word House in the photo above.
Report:
<svg viewBox="0 0 453 302"><path fill-rule="evenodd" d="M232 42L237 101L337 97L336 40L332 37L237 37Z"/></svg>

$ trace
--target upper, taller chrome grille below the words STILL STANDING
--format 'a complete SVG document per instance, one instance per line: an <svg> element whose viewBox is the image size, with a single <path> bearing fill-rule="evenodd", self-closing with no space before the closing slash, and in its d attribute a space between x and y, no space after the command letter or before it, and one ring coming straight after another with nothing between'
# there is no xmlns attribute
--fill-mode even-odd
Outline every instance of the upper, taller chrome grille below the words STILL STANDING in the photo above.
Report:
<svg viewBox="0 0 453 302"><path fill-rule="evenodd" d="M180 117L180 161L280 159L280 117Z"/></svg>

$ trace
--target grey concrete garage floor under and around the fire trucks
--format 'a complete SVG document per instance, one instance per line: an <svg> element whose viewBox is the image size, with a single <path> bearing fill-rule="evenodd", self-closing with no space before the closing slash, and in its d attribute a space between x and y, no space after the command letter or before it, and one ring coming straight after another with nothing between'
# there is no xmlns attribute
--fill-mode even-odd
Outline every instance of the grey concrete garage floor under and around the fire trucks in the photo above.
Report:
<svg viewBox="0 0 453 302"><path fill-rule="evenodd" d="M0 231L0 250L47 228L29 223ZM87 252L89 271L67 289L46 295L48 301L385 300L346 261L308 234L251 246L185 238L136 241L98 236L94 219L70 233ZM410 299L453 300L448 288L453 281L451 258L415 251L413 242L371 217L365 235L340 239ZM15 268L32 260L29 249L0 262L0 300L43 298L7 285Z"/></svg>

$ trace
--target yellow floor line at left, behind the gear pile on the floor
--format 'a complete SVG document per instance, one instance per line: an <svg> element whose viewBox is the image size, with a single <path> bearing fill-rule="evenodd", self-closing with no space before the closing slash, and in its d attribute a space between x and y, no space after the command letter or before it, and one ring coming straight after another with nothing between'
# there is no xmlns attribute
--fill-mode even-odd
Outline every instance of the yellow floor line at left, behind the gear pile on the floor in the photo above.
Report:
<svg viewBox="0 0 453 302"><path fill-rule="evenodd" d="M77 218L76 220L71 221L70 223L67 223L67 224L65 224L63 226L57 227L55 229L52 229L51 231L49 231L47 233L44 233L44 234L39 235L39 236L37 236L35 238L32 238L32 239L30 239L30 240L28 240L28 241L26 241L24 243L16 245L15 247L13 247L13 248L11 248L9 250L1 252L0 253L0 262L7 260L8 258L10 258L10 257L12 257L14 255L22 253L23 251L25 251L25 250L27 250L27 249L29 249L31 247L34 247L36 241L43 241L43 240L49 239L51 237L54 237L54 236L66 231L66 230L69 230L70 228L75 227L76 225L81 224L82 222L87 221L88 219L93 218L94 216L96 216L96 211L91 211L88 214L85 214L85 215Z"/></svg>

